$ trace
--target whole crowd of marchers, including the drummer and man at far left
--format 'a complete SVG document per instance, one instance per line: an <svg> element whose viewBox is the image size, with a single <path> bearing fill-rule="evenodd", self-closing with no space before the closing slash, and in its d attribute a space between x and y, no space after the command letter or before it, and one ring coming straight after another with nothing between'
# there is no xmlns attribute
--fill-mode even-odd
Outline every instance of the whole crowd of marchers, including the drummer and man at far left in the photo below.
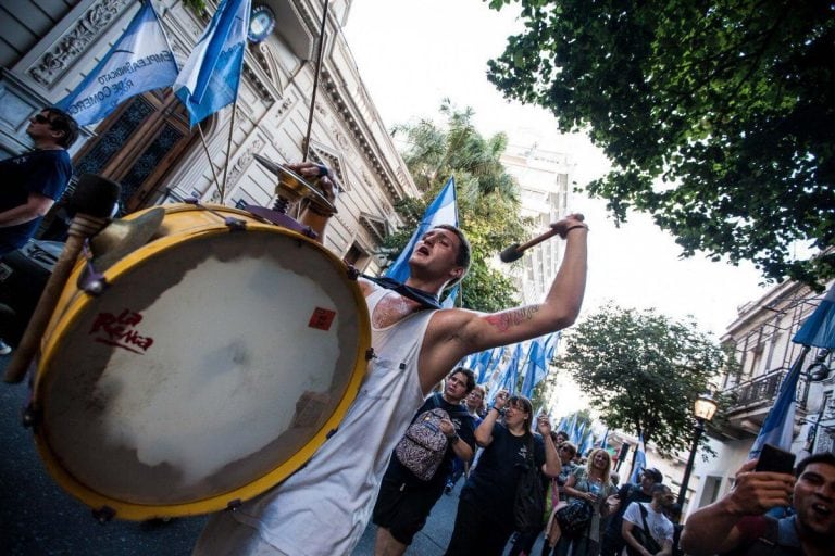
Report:
<svg viewBox="0 0 835 556"><path fill-rule="evenodd" d="M66 148L77 137L72 118L46 109L27 132L36 151L2 163L15 186L0 206L0 254L32 236L70 177ZM290 167L333 198L327 168ZM328 218L310 207L301 222L322 238ZM588 227L579 215L551 226L566 249L540 304L494 314L441 308L438 294L470 265L469 242L454 226L435 227L421 238L401 287L361 280L375 357L339 429L285 482L234 513L214 515L195 554L350 554L373 519L375 554L400 555L440 496L464 477L450 556L500 555L508 543L512 556L526 556L540 535L543 556L832 555L831 453L800 462L796 478L758 472L750 462L728 494L682 527L681 507L658 469L643 469L636 484L619 488L606 450L581 459L568 434L551 430L526 397L501 391L484 406L484 388L471 370L453 368L457 362L565 328L579 312ZM444 379L443 390L433 393ZM533 498L523 481L532 473L538 491ZM790 507L790 516L764 515L775 506ZM531 507L541 518L521 529L520 513Z"/></svg>

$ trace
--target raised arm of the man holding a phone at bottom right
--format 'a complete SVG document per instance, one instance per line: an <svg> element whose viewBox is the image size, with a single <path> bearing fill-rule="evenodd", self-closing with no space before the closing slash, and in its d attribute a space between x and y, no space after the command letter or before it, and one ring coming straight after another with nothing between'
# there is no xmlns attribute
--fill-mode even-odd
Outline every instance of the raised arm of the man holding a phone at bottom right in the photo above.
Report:
<svg viewBox="0 0 835 556"><path fill-rule="evenodd" d="M757 460L736 473L736 484L710 506L690 514L682 531L682 548L691 556L727 552L741 540L737 528L746 516L761 516L775 506L789 506L795 479L790 475L752 472Z"/></svg>

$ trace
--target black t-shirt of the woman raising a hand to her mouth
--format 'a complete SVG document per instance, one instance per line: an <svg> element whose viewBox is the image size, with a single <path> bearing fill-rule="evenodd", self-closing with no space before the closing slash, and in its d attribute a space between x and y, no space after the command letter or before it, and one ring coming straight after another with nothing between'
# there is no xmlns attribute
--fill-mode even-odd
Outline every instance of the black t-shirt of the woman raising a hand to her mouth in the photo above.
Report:
<svg viewBox="0 0 835 556"><path fill-rule="evenodd" d="M512 522L516 485L526 465L527 435L511 434L504 425L493 427L493 442L484 448L478 465L470 473L461 491L461 498L481 508L494 521ZM534 463L537 469L545 464L543 437L533 434Z"/></svg>

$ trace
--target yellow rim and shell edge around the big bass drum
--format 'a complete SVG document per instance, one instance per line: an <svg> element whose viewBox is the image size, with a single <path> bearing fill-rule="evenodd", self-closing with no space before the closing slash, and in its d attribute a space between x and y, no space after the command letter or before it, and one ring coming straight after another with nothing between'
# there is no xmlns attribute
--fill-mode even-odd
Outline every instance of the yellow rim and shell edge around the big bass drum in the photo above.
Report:
<svg viewBox="0 0 835 556"><path fill-rule="evenodd" d="M204 208L194 205L170 205L171 212L182 211L203 211ZM327 261L337 269L345 270L347 268L345 264L324 245L311 240L302 233L298 233L294 230L277 227L270 224L261 224L259 218L252 214L240 211L237 208L230 208L226 206L208 206L211 210L221 213L235 213L240 215L247 220L247 231L275 231L281 230L282 233L286 233L291 238L298 238L299 240L309 243L310 247L317 249L325 255ZM170 212L169 205L165 206L166 214ZM133 217L141 213L135 213ZM246 233L244 232L244 233ZM222 233L240 233L238 231L230 231L222 222L219 222L216 226L203 226L196 227L190 231L177 232L171 236L165 236L153 240L152 242L144 245L137 251L130 253L126 257L119 261L111 268L104 273L104 277L108 281L113 282L123 274L129 271L136 263L147 260L150 256L159 256L161 253L172 249L174 245L188 241L194 236L207 237L208 235L222 235ZM83 265L76 265L70 280L67 288L75 289L75 281L80 273ZM208 496L202 500L194 502L187 502L182 504L137 504L124 500L114 498L105 494L101 494L94 491L86 484L78 481L72 473L64 469L60 463L59 457L54 454L49 446L49 443L43 439L38 431L38 426L35 426L35 443L40 453L40 456L45 463L45 466L52 478L71 495L79 500L82 503L91 507L94 510L101 508L109 508L114 511L112 517L117 519L127 519L141 521L152 518L164 517L184 517L195 516L200 514L209 514L217 511L228 507L234 507L237 503L248 501L266 492L269 489L277 485L290 475L297 471L304 463L307 463L316 450L327 440L327 437L332 431L336 430L341 422L345 414L348 412L348 407L353 403L357 394L360 390L363 378L367 370L367 353L371 349L371 324L369 317L367 305L362 291L357 285L356 280L348 278L348 281L353 285L351 291L354 296L356 306L358 308L358 324L360 330L358 331L359 349L354 357L353 372L350 380L342 393L339 403L336 405L333 414L327 418L324 425L313 434L310 440L299 451L289 457L287 460L275 467L272 471L265 473L263 477L253 479L251 482L239 486L237 489ZM104 293L107 294L107 293ZM54 356L58 346L62 344L62 340L65 340L67 331L71 330L71 326L83 314L87 305L90 303L90 295L77 295L70 301L68 306L63 314L53 323L54 327L51 328L52 334L43 345L43 354L38 365L38 371L35 376L33 384L33 403L37 408L38 401L41 396L38 394L41 391L41 383L43 383L49 375L49 366ZM364 326L363 326L364 325Z"/></svg>

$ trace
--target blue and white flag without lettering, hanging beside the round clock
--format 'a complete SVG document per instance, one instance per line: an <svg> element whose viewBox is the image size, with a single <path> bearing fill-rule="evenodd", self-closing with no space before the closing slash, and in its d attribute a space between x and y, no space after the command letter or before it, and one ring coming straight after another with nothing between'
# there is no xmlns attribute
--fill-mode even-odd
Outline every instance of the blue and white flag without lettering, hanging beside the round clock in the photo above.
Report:
<svg viewBox="0 0 835 556"><path fill-rule="evenodd" d="M235 102L251 0L222 0L174 83L191 126Z"/></svg>

